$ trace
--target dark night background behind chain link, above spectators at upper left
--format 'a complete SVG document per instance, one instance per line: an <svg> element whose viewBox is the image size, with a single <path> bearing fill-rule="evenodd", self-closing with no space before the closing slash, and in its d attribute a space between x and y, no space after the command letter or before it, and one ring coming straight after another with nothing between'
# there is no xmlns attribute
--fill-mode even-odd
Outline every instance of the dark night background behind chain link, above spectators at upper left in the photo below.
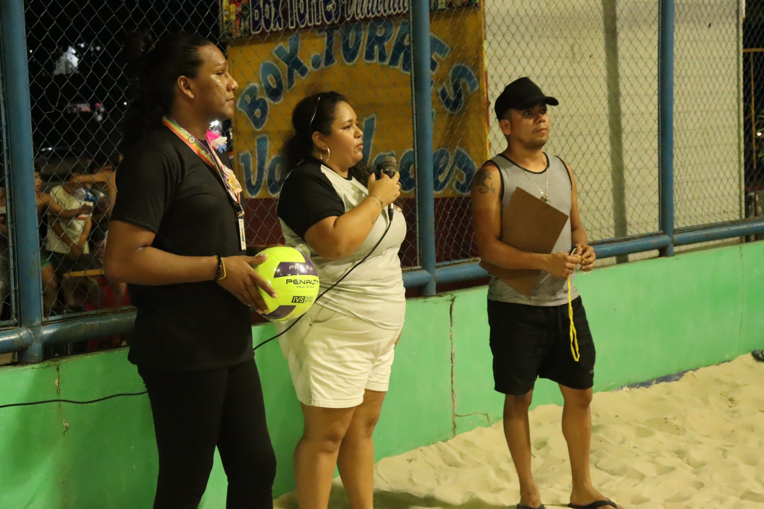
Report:
<svg viewBox="0 0 764 509"><path fill-rule="evenodd" d="M76 147L90 157L113 158L116 124L125 110L128 77L121 50L138 27L164 32L193 31L217 42L217 0L29 0L27 46L34 147ZM57 62L72 47L76 72L54 75ZM79 111L101 105L94 112Z"/></svg>

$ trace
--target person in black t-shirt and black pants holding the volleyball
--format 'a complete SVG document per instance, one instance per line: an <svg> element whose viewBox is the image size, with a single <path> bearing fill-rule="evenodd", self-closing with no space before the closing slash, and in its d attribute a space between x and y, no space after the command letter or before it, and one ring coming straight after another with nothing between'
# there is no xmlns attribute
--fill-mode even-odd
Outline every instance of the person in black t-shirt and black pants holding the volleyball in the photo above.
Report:
<svg viewBox="0 0 764 509"><path fill-rule="evenodd" d="M228 509L272 507L276 458L252 349L251 307L267 309L245 256L231 162L206 141L231 118L237 83L218 47L193 34L128 39L125 159L105 252L137 308L128 359L154 417L154 507L197 507L217 446Z"/></svg>

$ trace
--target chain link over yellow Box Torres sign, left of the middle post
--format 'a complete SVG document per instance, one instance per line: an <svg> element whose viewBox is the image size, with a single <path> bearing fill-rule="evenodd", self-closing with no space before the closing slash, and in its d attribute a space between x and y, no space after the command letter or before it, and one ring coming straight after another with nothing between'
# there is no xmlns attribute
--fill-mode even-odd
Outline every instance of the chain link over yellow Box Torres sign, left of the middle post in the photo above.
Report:
<svg viewBox="0 0 764 509"><path fill-rule="evenodd" d="M332 16L347 17L341 9L319 16L286 3L270 12L254 2L223 2L223 8L222 37L239 84L231 159L244 182L248 237L283 241L276 205L286 173L279 150L293 132L293 108L308 95L340 92L363 130L363 162L376 166L394 156L400 164L409 226L400 259L405 269L419 268L408 20L351 15L337 26Z"/></svg>

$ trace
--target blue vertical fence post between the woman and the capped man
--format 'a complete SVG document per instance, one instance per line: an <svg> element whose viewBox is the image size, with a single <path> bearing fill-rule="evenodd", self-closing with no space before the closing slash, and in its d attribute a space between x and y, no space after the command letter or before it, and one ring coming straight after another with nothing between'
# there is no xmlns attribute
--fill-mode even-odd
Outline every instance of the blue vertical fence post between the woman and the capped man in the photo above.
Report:
<svg viewBox="0 0 764 509"><path fill-rule="evenodd" d="M416 160L416 207L419 259L432 275L422 295L435 295L435 193L432 182L432 76L430 72L429 1L411 2L411 59Z"/></svg>

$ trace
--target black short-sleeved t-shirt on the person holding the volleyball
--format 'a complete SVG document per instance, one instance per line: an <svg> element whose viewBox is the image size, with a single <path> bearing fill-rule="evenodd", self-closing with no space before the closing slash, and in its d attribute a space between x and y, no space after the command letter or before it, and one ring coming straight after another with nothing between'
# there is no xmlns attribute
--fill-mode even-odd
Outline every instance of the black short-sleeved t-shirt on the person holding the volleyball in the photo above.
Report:
<svg viewBox="0 0 764 509"><path fill-rule="evenodd" d="M228 156L220 155L230 166ZM112 221L156 234L151 244L180 256L236 256L238 216L210 168L160 127L131 147L117 172ZM215 369L254 355L250 309L216 282L128 285L138 308L128 359L147 369Z"/></svg>

